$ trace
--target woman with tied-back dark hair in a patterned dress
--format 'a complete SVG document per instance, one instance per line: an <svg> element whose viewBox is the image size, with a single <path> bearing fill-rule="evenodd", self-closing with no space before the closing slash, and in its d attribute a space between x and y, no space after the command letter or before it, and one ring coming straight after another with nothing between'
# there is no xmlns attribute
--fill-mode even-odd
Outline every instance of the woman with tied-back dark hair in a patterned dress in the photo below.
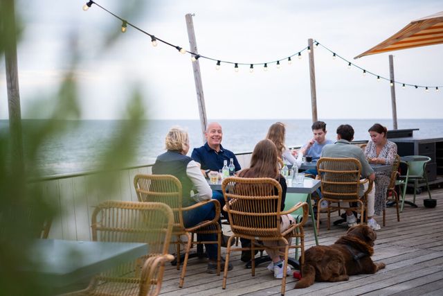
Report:
<svg viewBox="0 0 443 296"><path fill-rule="evenodd" d="M397 144L387 138L388 129L375 123L368 130L370 141L365 148L365 155L370 164L393 164L397 155ZM375 172L374 213L380 216L386 207L386 191L390 183L390 171Z"/></svg>

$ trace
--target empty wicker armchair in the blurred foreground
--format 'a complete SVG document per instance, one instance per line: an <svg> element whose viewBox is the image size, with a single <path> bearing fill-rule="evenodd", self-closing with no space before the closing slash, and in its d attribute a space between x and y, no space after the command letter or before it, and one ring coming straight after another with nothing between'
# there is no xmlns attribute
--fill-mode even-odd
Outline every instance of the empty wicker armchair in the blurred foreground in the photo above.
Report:
<svg viewBox="0 0 443 296"><path fill-rule="evenodd" d="M94 277L85 290L66 295L158 295L173 216L161 202L106 201L92 214L93 241L147 243L147 255Z"/></svg>

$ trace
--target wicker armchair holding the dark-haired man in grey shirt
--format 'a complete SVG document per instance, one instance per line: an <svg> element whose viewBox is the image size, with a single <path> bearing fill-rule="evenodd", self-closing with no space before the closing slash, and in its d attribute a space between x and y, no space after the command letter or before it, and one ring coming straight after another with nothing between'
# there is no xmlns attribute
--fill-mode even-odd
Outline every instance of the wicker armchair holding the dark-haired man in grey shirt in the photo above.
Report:
<svg viewBox="0 0 443 296"><path fill-rule="evenodd" d="M361 164L355 158L321 157L317 162L318 176L321 180L322 198L319 204L327 201L327 229L331 225L331 211L349 209L357 211L364 217L366 195L372 189L373 182L361 178ZM359 196L360 185L370 182L368 190ZM355 202L356 205L345 206L343 203ZM363 223L363 219L361 219ZM317 211L317 231L320 227L320 211Z"/></svg>

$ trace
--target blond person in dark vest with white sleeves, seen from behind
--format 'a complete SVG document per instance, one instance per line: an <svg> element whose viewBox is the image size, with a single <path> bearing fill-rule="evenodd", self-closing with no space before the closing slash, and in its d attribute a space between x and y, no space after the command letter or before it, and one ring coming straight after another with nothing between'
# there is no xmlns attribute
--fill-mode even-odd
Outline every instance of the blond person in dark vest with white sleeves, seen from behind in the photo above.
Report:
<svg viewBox="0 0 443 296"><path fill-rule="evenodd" d="M213 191L210 189L203 175L201 175L199 165L186 156L189 151L188 132L179 127L171 128L165 138L166 152L159 155L154 166L152 166L152 174L154 175L174 175L177 177L183 188L183 207L189 207L197 202L210 200ZM191 189L197 189L194 193ZM205 204L190 211L183 211L183 223L185 227L192 227L204 220L212 220L215 217L215 206L212 202ZM198 241L217 241L216 234L199 234ZM209 257L208 270L209 273L217 272L217 245L205 244L206 253ZM221 270L224 268L222 260ZM229 264L229 269L233 268Z"/></svg>

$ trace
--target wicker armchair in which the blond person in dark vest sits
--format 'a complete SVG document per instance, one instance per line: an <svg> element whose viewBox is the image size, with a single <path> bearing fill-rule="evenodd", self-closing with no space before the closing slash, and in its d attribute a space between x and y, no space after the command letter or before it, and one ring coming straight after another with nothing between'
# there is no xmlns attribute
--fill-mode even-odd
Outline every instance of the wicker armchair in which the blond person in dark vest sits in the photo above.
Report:
<svg viewBox="0 0 443 296"><path fill-rule="evenodd" d="M192 243L217 243L217 275L220 275L221 228L218 223L220 217L220 203L218 200L208 200L205 202L198 202L190 207L182 207L183 195L181 192L181 182L173 175L136 175L134 177L134 186L139 201L164 202L171 207L172 212L174 213L174 227L172 229L172 234L177 239L173 238L172 243L177 245L177 270L180 269L180 245L186 244L185 259L183 260L183 270L181 271L179 287L183 287ZM186 228L183 224L183 211L190 211L197 207L201 207L207 202L213 202L215 204L215 218L213 220L206 220L193 227ZM193 241L193 234L217 234L217 241ZM182 241L181 235L185 235L187 241Z"/></svg>

